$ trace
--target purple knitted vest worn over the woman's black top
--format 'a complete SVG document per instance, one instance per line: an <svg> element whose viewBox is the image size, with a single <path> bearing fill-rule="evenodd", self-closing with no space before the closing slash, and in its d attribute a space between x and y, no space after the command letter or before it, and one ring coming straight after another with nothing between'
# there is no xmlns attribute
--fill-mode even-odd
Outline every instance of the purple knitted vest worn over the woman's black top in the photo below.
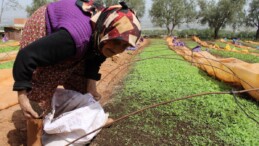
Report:
<svg viewBox="0 0 259 146"><path fill-rule="evenodd" d="M77 5L76 0L61 0L50 3L46 12L47 34L60 28L66 29L72 36L77 52L75 57L80 58L90 42L92 28L90 17Z"/></svg>

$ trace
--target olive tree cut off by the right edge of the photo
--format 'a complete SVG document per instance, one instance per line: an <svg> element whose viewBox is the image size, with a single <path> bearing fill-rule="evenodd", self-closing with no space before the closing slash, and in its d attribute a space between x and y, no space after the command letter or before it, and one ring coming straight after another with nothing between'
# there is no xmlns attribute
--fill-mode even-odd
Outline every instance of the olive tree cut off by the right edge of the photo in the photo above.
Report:
<svg viewBox="0 0 259 146"><path fill-rule="evenodd" d="M246 25L256 27L255 39L259 39L259 0L252 0L249 4L248 15L246 17Z"/></svg>

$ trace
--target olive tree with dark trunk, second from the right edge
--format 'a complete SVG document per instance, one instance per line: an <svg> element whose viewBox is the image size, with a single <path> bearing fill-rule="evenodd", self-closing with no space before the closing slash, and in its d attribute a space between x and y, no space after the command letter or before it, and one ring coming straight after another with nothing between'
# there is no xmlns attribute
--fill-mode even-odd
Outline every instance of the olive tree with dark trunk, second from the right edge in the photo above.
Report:
<svg viewBox="0 0 259 146"><path fill-rule="evenodd" d="M199 17L201 24L208 24L218 38L221 28L236 23L243 12L246 0L199 0Z"/></svg>

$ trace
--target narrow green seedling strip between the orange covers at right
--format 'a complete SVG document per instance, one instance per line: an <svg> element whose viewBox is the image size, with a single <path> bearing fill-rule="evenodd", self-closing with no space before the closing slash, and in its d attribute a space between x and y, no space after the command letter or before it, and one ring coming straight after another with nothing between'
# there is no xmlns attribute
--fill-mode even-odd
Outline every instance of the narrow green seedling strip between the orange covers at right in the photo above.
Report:
<svg viewBox="0 0 259 146"><path fill-rule="evenodd" d="M188 48L194 48L195 46L198 45L198 43L194 41L184 41L186 47ZM202 50L205 50L204 47L202 47ZM259 63L259 57L251 54L242 54L242 53L237 53L237 52L230 52L230 51L225 51L225 50L215 50L215 49L209 49L210 53L213 55L219 55L224 58L237 58L249 63Z"/></svg>

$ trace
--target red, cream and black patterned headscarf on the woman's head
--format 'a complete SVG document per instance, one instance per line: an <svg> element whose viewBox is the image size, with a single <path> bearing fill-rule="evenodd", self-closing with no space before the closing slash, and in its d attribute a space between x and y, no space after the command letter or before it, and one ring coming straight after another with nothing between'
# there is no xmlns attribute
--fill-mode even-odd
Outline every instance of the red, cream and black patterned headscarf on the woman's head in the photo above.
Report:
<svg viewBox="0 0 259 146"><path fill-rule="evenodd" d="M91 12L92 37L95 47L100 50L104 41L113 39L128 42L133 47L136 46L141 35L140 22L134 11L128 8L124 2L120 2L121 5L114 5L105 9L100 7L100 3L99 7L91 5L97 3L94 0L84 0L82 3L84 11L89 12L89 10L93 10L93 7L95 10Z"/></svg>

